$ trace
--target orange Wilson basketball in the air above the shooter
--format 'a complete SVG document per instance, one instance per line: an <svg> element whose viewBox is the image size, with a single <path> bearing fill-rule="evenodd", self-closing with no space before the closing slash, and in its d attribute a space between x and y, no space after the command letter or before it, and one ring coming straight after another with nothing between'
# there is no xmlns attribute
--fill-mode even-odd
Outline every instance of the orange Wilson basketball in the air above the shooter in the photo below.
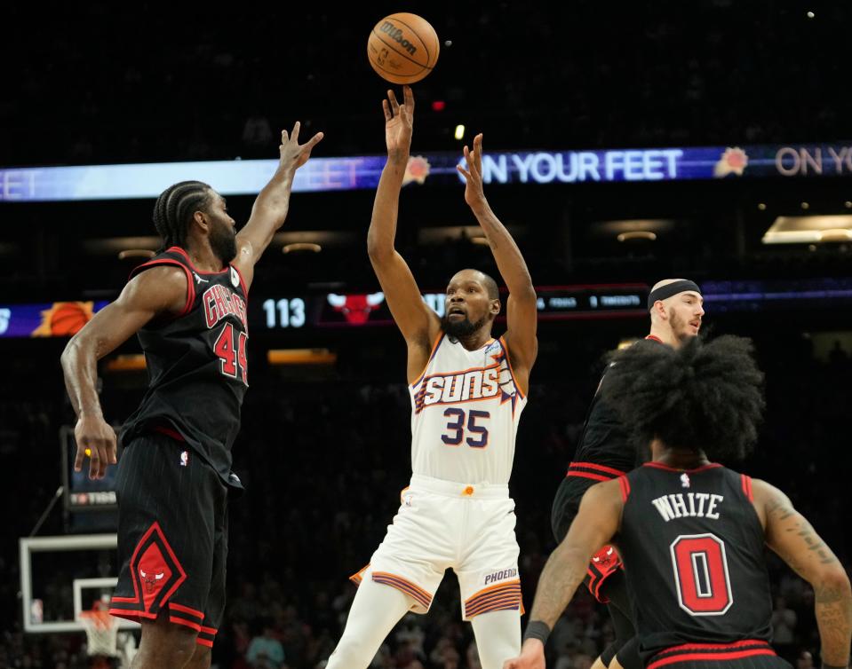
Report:
<svg viewBox="0 0 852 669"><path fill-rule="evenodd" d="M426 19L400 12L378 21L367 40L367 58L382 79L415 83L432 72L441 45Z"/></svg>

